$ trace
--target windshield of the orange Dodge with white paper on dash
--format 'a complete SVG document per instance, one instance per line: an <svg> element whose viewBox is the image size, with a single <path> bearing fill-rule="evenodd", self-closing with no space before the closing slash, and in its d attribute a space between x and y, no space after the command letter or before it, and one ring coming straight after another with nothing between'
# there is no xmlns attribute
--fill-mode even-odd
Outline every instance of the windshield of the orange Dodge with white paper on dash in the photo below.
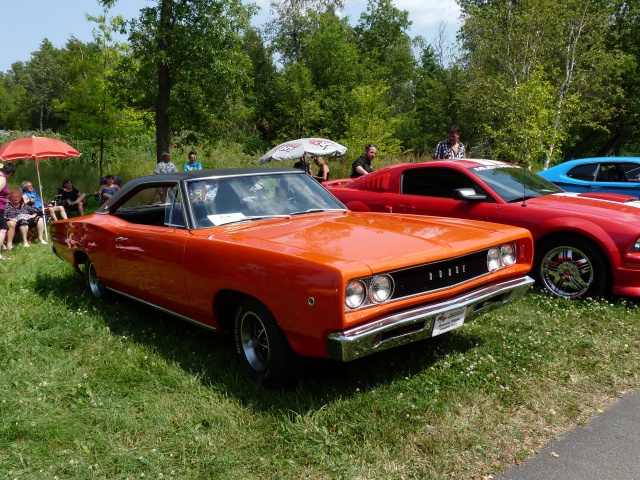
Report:
<svg viewBox="0 0 640 480"><path fill-rule="evenodd" d="M309 175L268 173L187 182L196 228L346 210Z"/></svg>

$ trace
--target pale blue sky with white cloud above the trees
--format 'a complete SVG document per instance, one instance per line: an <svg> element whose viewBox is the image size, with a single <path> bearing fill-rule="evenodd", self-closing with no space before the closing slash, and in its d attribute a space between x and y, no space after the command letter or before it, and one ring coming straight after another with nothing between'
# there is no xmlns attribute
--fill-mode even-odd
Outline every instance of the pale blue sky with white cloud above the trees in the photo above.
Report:
<svg viewBox="0 0 640 480"><path fill-rule="evenodd" d="M3 0L2 3L1 72L9 70L13 62L29 60L45 38L57 48L64 47L72 35L83 42L91 40L95 24L86 20L85 13L94 16L102 13L94 0ZM254 0L254 3L262 8L253 21L260 27L269 19L270 2ZM140 8L154 4L157 0L118 0L109 16L137 17ZM447 37L453 39L459 26L460 10L455 0L394 0L394 4L409 12L409 20L413 22L411 36L422 35L432 42L443 25ZM355 24L360 13L366 11L367 2L346 0L345 5L344 14Z"/></svg>

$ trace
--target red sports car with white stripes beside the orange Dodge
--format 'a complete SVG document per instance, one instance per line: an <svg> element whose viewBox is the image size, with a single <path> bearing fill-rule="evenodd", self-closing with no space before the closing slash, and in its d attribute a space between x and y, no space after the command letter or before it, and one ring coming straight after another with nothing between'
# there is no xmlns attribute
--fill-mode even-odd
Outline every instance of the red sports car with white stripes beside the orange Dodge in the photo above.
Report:
<svg viewBox="0 0 640 480"><path fill-rule="evenodd" d="M567 193L539 175L494 160L393 165L324 185L349 209L487 220L527 228L532 276L574 299L640 296L640 202Z"/></svg>

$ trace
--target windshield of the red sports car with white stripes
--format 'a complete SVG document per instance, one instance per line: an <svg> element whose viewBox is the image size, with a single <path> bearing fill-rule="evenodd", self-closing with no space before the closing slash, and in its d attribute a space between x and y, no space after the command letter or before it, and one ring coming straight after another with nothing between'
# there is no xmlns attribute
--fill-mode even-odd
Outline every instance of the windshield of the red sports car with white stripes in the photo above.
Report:
<svg viewBox="0 0 640 480"><path fill-rule="evenodd" d="M536 173L515 165L484 165L470 169L505 202L517 202L563 190Z"/></svg>

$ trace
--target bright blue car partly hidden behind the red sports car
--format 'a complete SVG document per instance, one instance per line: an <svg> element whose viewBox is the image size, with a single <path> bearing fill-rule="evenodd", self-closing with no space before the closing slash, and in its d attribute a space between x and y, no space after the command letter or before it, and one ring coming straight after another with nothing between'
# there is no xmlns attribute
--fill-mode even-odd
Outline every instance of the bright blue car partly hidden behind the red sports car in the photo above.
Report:
<svg viewBox="0 0 640 480"><path fill-rule="evenodd" d="M640 197L640 157L581 158L538 173L567 192Z"/></svg>

